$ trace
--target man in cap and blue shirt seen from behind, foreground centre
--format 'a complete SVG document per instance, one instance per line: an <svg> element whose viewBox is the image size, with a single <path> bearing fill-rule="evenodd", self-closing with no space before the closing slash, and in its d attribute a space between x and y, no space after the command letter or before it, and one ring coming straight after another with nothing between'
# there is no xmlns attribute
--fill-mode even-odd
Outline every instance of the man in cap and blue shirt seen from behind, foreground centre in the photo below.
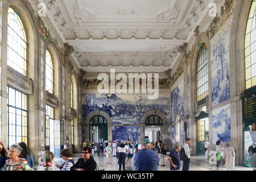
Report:
<svg viewBox="0 0 256 182"><path fill-rule="evenodd" d="M142 150L134 157L136 171L158 171L159 158L155 151L150 150L151 141L142 140Z"/></svg>

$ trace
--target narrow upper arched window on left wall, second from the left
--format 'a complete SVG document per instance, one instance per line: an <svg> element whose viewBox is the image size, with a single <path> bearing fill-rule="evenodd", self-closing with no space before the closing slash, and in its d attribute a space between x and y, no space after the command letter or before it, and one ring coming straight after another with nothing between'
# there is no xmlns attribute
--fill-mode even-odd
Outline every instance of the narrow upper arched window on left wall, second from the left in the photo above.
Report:
<svg viewBox="0 0 256 182"><path fill-rule="evenodd" d="M46 90L53 94L53 63L49 51L46 49Z"/></svg>

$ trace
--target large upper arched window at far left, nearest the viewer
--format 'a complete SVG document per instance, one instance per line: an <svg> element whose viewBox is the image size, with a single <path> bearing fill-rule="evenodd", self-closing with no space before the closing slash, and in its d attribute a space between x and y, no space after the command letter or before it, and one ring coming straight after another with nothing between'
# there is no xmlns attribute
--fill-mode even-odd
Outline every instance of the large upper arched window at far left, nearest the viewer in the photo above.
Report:
<svg viewBox="0 0 256 182"><path fill-rule="evenodd" d="M27 76L27 38L19 15L9 7L7 30L7 65Z"/></svg>

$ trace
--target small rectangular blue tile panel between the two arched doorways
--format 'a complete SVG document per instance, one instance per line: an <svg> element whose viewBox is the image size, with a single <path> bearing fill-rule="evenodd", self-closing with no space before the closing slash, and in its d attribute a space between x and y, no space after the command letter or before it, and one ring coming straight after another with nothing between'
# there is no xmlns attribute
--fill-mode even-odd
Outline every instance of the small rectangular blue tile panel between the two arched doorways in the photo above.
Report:
<svg viewBox="0 0 256 182"><path fill-rule="evenodd" d="M113 141L139 141L141 140L141 126L114 126L112 130Z"/></svg>

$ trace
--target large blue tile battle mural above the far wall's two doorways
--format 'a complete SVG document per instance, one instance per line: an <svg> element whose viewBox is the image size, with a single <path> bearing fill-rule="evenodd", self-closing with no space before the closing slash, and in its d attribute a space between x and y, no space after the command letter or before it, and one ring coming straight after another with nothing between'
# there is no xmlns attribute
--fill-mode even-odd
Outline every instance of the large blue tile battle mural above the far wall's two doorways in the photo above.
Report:
<svg viewBox="0 0 256 182"><path fill-rule="evenodd" d="M146 94L83 94L82 120L92 111L100 109L107 113L113 124L139 124L141 118L153 109L170 120L170 99L160 94L157 100L147 100Z"/></svg>

